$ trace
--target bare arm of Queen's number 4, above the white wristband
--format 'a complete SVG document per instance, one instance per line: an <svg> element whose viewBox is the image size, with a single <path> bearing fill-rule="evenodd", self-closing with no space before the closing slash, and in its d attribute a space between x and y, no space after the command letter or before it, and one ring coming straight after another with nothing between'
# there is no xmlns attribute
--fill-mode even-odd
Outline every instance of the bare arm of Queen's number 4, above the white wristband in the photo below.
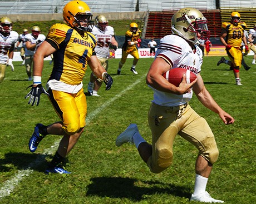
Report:
<svg viewBox="0 0 256 204"><path fill-rule="evenodd" d="M55 51L56 49L50 43L43 41L33 57L33 76L42 76L43 59Z"/></svg>

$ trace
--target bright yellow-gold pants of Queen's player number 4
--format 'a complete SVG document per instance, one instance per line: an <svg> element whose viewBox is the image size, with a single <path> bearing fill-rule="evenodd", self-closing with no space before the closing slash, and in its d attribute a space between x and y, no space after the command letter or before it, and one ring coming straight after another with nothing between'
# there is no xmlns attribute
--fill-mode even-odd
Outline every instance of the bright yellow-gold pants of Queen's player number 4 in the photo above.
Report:
<svg viewBox="0 0 256 204"><path fill-rule="evenodd" d="M80 128L85 127L87 103L83 88L78 93L52 89L48 93L53 108L63 122L62 128L68 135L74 135Z"/></svg>

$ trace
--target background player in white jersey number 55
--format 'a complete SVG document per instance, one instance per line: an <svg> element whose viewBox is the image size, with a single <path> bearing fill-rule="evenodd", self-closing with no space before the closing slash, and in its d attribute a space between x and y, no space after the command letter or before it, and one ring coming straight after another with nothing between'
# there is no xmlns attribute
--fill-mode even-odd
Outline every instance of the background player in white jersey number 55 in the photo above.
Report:
<svg viewBox="0 0 256 204"><path fill-rule="evenodd" d="M103 15L96 16L96 26L93 26L91 33L95 35L97 44L95 47L96 56L99 59L101 66L107 71L109 68L109 46L112 44L116 50L118 43L114 37L114 28L109 26L109 21ZM92 96L100 96L97 94L101 87L102 80L97 78L93 72L90 76L90 82L88 83L88 93Z"/></svg>

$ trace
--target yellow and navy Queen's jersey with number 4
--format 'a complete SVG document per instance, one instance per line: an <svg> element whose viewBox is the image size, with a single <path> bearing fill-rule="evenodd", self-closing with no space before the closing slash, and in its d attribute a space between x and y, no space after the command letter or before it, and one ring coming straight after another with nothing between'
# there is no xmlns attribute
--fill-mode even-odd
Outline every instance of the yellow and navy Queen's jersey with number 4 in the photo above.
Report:
<svg viewBox="0 0 256 204"><path fill-rule="evenodd" d="M54 65L49 80L80 84L85 76L88 60L95 54L95 36L85 32L82 37L70 26L57 23L51 27L46 41L57 49L53 53Z"/></svg>

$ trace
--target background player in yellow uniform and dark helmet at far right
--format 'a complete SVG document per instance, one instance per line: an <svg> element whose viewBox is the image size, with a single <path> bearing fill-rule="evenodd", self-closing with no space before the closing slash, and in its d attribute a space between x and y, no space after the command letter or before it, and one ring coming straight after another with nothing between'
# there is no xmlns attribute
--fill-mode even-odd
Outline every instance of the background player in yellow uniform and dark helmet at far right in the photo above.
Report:
<svg viewBox="0 0 256 204"><path fill-rule="evenodd" d="M222 23L220 41L226 47L231 63L228 61L226 62L224 58L221 58L217 65L220 63L229 64L234 71L236 84L242 85L239 76L239 69L243 59L241 44L243 41L245 44L245 51L249 51L247 39L244 36L244 30L247 26L244 22L240 22L240 13L238 12L232 12L230 19L230 22Z"/></svg>

